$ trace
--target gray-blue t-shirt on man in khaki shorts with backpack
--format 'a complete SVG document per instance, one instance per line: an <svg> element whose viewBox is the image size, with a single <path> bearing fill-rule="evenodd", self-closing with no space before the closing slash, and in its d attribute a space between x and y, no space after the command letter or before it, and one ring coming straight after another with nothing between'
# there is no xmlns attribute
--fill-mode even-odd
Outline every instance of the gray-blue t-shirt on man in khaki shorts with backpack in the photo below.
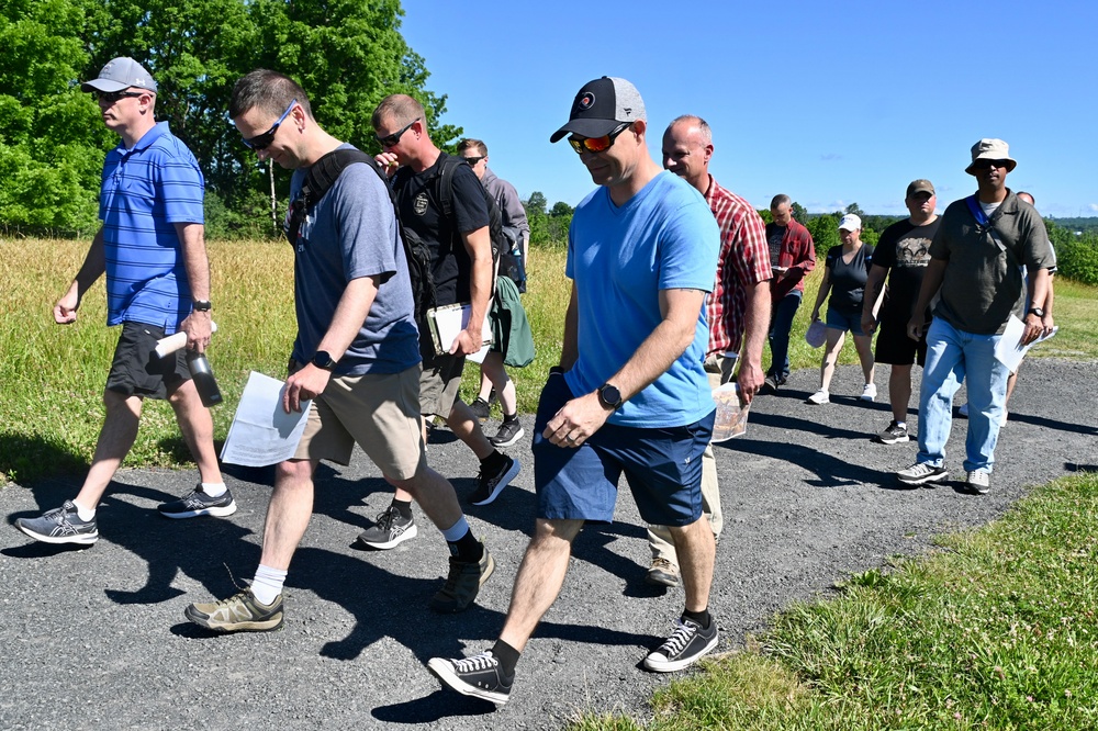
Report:
<svg viewBox="0 0 1098 731"><path fill-rule="evenodd" d="M343 147L351 148L350 145ZM301 195L309 168L295 170L290 200ZM419 362L404 244L389 191L362 162L347 166L301 224L293 265L298 338L293 359L305 363L332 326L348 282L380 275L366 322L339 359L340 375L399 373Z"/></svg>

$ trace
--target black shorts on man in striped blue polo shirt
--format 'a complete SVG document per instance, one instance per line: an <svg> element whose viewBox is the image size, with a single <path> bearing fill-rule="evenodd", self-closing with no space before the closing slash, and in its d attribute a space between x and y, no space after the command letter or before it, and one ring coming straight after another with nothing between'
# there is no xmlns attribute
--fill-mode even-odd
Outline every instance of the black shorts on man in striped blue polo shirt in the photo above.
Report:
<svg viewBox="0 0 1098 731"><path fill-rule="evenodd" d="M107 390L124 396L167 398L191 378L187 366L187 349L158 358L156 341L164 337L164 328L143 323L123 323L114 361L107 376Z"/></svg>

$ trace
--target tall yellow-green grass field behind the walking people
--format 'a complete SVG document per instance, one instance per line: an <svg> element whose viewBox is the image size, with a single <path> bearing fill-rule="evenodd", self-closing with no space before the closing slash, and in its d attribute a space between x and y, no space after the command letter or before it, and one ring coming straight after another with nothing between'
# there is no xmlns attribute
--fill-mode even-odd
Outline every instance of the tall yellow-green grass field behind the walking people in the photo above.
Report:
<svg viewBox="0 0 1098 731"><path fill-rule="evenodd" d="M105 293L97 282L85 296L79 319L53 323L52 307L68 288L89 241L0 238L0 476L2 483L34 480L86 469L103 423L102 387L117 339L104 327ZM210 348L224 405L213 411L214 438L228 432L233 411L250 371L281 378L293 345L293 256L278 241L209 243L214 319L221 330ZM511 369L518 407L531 413L549 368L560 361L571 284L564 277L564 248L530 249L529 291L523 302L534 330L536 358L525 369ZM794 368L818 367L820 351L800 337L808 327L822 269L808 278L804 304L793 325ZM1056 283L1056 316L1062 323L1053 340L1037 356L1098 358L1098 289ZM769 362L764 353L763 362ZM856 362L848 342L840 363ZM467 368L462 392L477 396L479 369ZM190 465L171 408L147 401L127 466Z"/></svg>

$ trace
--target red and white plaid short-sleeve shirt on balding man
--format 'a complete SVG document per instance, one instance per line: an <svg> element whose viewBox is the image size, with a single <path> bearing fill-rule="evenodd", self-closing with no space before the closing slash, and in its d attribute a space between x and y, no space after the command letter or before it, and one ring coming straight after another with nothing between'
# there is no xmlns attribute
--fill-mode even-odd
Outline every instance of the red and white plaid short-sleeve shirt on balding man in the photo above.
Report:
<svg viewBox="0 0 1098 731"><path fill-rule="evenodd" d="M747 291L773 275L766 227L751 204L709 176L705 193L720 228L720 255L713 292L705 300L709 353L739 352L743 341Z"/></svg>

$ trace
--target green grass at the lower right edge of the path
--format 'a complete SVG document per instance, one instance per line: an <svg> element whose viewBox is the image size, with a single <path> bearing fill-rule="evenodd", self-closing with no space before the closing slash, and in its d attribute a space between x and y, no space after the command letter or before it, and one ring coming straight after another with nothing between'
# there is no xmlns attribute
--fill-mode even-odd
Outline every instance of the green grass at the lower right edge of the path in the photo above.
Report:
<svg viewBox="0 0 1098 731"><path fill-rule="evenodd" d="M785 609L659 690L647 722L593 710L568 728L1098 728L1098 475L939 547Z"/></svg>

